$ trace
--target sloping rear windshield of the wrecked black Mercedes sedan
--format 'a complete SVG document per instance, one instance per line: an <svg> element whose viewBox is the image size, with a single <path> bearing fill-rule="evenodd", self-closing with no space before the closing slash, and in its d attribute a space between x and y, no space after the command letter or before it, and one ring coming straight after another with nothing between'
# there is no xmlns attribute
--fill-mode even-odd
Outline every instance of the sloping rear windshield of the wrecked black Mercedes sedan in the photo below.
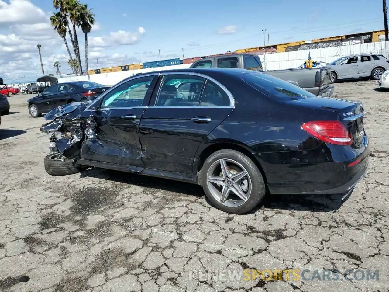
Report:
<svg viewBox="0 0 389 292"><path fill-rule="evenodd" d="M248 73L240 78L262 94L280 101L315 97L301 87L265 73Z"/></svg>

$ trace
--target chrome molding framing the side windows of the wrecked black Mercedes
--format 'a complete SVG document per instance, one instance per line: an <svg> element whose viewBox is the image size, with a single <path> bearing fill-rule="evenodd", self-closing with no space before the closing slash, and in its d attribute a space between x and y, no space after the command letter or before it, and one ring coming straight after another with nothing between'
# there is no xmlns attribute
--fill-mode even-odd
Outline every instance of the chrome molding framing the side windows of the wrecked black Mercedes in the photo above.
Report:
<svg viewBox="0 0 389 292"><path fill-rule="evenodd" d="M210 76L207 76L207 75L201 74L201 73L196 73L196 72L164 72L164 73L161 73L161 72L150 72L150 73L145 73L145 74L133 75L133 76L127 77L126 79L120 81L116 85L112 86L109 90L105 91L97 99L93 100L93 102L91 104L89 104L89 106L84 111L91 111L90 108L93 107L94 104L100 102L100 100L102 98L104 98L105 95L107 95L112 90L115 90L115 88L117 88L118 86L122 85L123 83L131 81L133 79L145 77L145 76L160 76L160 75L193 75L193 76L203 77L203 78L205 78L207 80L210 80L213 83L215 83L217 86L219 86L222 90L224 90L224 92L226 92L226 94L228 95L228 98L230 99L230 106L173 106L173 107L166 107L166 106L147 106L146 107L146 106L140 106L140 107L110 107L110 108L97 109L97 110L106 111L106 110L111 110L111 109L134 109L134 108L148 108L148 107L150 107L150 108L165 108L165 109L166 108L176 108L176 109L177 108L205 108L205 109L209 109L209 108L212 108L212 109L215 109L215 108L222 108L222 109L223 108L235 108L235 99L234 99L231 91L228 90L226 88L226 86L224 86L219 81L215 80L214 78L212 78ZM160 90L160 88L158 88L158 95L159 95L159 90Z"/></svg>

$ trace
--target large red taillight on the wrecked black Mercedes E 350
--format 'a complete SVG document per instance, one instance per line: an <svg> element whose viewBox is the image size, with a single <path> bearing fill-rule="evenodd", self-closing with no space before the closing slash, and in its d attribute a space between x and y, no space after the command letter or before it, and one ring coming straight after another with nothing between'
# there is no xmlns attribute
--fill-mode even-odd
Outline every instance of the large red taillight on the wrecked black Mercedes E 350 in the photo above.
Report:
<svg viewBox="0 0 389 292"><path fill-rule="evenodd" d="M351 145L352 138L340 121L310 121L301 128L313 137L335 145Z"/></svg>

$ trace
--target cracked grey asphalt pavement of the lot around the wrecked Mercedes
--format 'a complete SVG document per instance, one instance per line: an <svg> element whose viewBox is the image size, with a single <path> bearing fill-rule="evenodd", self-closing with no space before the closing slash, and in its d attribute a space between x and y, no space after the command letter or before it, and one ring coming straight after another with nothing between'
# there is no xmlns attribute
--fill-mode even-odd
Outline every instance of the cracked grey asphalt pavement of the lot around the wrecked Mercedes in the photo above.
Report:
<svg viewBox="0 0 389 292"><path fill-rule="evenodd" d="M44 118L28 114L31 95L9 97L11 114L0 126L0 290L389 291L389 93L377 87L335 84L339 98L363 101L371 143L369 170L346 202L267 196L247 215L223 213L200 186L175 181L104 169L49 176ZM327 269L340 279L193 273L244 269Z"/></svg>

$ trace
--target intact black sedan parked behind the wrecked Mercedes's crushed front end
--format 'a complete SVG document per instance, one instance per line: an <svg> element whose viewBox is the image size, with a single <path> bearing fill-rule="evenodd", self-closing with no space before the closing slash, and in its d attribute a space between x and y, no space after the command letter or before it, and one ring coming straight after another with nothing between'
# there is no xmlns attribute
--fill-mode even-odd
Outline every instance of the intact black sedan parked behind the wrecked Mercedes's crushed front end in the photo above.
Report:
<svg viewBox="0 0 389 292"><path fill-rule="evenodd" d="M91 81L73 81L54 84L28 100L28 111L33 118L70 102L94 100L110 86Z"/></svg>

